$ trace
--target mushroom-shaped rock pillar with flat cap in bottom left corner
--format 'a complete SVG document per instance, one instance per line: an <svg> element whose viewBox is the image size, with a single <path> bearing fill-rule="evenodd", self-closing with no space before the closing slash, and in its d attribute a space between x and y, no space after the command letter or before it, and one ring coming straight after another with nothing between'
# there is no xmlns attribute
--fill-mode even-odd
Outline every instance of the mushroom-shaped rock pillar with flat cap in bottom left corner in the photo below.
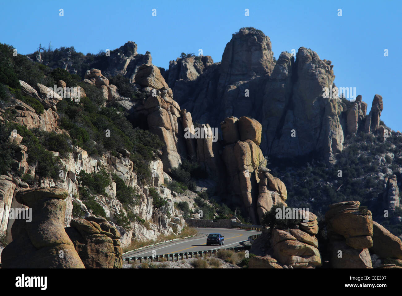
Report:
<svg viewBox="0 0 402 296"><path fill-rule="evenodd" d="M12 242L2 252L3 268L85 268L64 231L67 190L18 192L16 200L32 210L32 221L16 219Z"/></svg>

